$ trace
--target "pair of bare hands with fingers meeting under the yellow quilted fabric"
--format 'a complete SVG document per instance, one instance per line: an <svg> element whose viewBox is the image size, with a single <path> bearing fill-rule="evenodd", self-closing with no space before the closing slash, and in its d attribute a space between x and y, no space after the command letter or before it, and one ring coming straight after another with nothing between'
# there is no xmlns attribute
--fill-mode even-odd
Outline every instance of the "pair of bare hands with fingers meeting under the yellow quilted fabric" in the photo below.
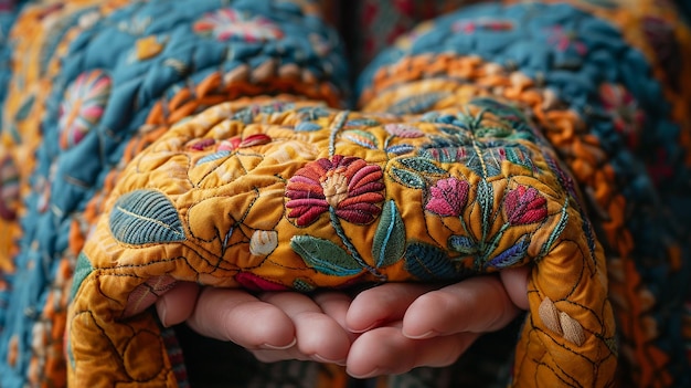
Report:
<svg viewBox="0 0 691 388"><path fill-rule="evenodd" d="M251 294L180 283L156 304L161 322L231 340L266 363L334 363L357 378L442 367L528 308L527 268L444 287L386 283L354 297L325 291Z"/></svg>

